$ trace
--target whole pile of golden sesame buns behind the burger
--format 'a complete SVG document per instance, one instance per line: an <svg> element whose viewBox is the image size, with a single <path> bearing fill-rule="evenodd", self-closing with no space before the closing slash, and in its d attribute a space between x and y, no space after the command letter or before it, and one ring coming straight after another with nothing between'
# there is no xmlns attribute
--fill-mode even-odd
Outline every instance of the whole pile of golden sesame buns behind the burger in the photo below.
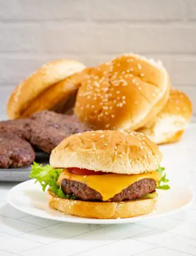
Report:
<svg viewBox="0 0 196 256"><path fill-rule="evenodd" d="M136 54L91 68L70 59L48 63L16 87L7 114L67 113L73 106L94 130L139 131L157 144L178 141L192 115L190 100L171 89L162 63Z"/></svg>

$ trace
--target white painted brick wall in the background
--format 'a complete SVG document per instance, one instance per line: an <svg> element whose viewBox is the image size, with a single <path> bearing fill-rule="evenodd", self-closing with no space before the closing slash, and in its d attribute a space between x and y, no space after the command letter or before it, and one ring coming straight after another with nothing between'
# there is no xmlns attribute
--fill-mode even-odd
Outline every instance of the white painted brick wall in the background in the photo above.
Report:
<svg viewBox="0 0 196 256"><path fill-rule="evenodd" d="M41 64L91 66L125 52L162 59L196 121L196 0L0 0L0 118L13 87Z"/></svg>

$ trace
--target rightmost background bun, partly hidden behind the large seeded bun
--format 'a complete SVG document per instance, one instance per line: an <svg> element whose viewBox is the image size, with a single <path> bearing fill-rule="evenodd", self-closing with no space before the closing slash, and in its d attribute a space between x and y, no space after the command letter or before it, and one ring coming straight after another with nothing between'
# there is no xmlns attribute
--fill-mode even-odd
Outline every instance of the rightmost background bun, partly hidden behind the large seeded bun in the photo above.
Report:
<svg viewBox="0 0 196 256"><path fill-rule="evenodd" d="M183 136L191 117L192 103L188 96L184 92L172 89L167 104L154 122L138 131L157 144L177 142Z"/></svg>

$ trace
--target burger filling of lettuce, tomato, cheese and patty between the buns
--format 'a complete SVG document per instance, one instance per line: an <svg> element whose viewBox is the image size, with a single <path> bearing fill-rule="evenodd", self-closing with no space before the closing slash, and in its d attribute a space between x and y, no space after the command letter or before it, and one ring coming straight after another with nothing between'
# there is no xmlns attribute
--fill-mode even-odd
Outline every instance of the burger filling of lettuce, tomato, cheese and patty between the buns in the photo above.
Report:
<svg viewBox="0 0 196 256"><path fill-rule="evenodd" d="M104 175L101 175L104 174ZM127 201L153 197L156 188L169 189L165 168L143 174L103 173L72 167L55 169L50 165L34 162L30 178L36 179L45 191L46 187L60 198L85 201ZM152 194L152 195L151 195Z"/></svg>

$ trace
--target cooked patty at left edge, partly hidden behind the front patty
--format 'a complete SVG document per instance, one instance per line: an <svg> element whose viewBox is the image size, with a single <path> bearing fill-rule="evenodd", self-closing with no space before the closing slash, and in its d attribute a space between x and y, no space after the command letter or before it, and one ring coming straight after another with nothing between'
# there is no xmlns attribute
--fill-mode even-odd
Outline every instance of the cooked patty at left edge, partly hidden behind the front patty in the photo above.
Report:
<svg viewBox="0 0 196 256"><path fill-rule="evenodd" d="M29 140L30 138L30 119L16 119L0 122L0 132L13 133L17 136Z"/></svg>

